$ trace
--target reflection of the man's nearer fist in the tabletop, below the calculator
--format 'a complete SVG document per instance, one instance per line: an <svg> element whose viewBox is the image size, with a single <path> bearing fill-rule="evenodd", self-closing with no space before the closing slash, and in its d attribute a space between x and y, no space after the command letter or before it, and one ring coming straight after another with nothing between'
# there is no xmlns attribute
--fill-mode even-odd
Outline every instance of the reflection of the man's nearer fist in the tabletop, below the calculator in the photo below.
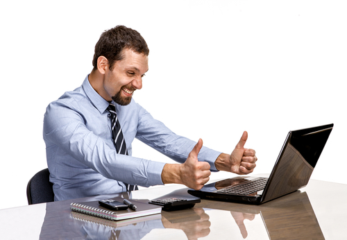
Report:
<svg viewBox="0 0 347 240"><path fill-rule="evenodd" d="M164 228L174 228L180 229L185 232L189 240L195 240L199 237L206 237L210 234L210 216L205 213L203 208L194 207L194 212L200 216L199 220L196 221L186 221L182 223L170 223L167 218L162 216L162 225Z"/></svg>

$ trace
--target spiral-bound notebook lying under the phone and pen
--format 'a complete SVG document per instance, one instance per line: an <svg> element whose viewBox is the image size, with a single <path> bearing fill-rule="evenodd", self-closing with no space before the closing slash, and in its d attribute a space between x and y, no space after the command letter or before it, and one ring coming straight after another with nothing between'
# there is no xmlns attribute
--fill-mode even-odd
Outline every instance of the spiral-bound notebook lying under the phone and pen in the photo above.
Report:
<svg viewBox="0 0 347 240"><path fill-rule="evenodd" d="M112 199L123 202L122 198ZM121 211L112 211L105 207L101 207L98 200L84 203L71 203L70 208L74 212L81 212L83 214L97 216L99 218L105 218L112 221L159 214L162 211L162 207L149 204L148 199L131 199L131 203L136 205L137 209L135 211L130 208Z"/></svg>

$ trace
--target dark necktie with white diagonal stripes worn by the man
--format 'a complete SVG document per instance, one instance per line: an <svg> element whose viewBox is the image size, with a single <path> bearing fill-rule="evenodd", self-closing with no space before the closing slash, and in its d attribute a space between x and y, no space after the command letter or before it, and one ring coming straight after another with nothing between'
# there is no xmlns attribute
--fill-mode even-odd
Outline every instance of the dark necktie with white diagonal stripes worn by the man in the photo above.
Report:
<svg viewBox="0 0 347 240"><path fill-rule="evenodd" d="M121 125L119 124L119 121L118 121L115 105L110 103L110 105L108 105L107 110L108 112L110 112L112 117L111 119L112 139L113 139L113 144L115 144L116 151L118 154L128 155L128 149L126 149L126 142L124 140L123 132L121 132ZM125 182L124 184L126 185L127 191L133 191L138 189L137 186L128 185Z"/></svg>

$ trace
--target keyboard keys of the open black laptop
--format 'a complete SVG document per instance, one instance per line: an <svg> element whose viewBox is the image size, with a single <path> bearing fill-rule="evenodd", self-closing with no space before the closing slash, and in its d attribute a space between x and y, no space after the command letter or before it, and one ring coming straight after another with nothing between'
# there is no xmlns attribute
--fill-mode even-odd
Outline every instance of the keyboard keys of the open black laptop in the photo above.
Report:
<svg viewBox="0 0 347 240"><path fill-rule="evenodd" d="M254 193L255 191L264 189L267 180L268 178L255 178L253 180L248 180L247 182L242 182L237 185L220 189L216 192L223 194L248 195Z"/></svg>

